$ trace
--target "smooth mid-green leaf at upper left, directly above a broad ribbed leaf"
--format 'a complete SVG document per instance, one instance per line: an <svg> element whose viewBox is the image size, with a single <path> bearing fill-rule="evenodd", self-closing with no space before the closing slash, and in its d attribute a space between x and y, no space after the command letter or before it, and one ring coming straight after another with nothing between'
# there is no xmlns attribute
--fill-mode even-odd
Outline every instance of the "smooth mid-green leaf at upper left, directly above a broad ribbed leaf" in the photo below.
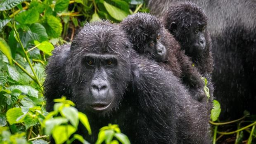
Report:
<svg viewBox="0 0 256 144"><path fill-rule="evenodd" d="M17 15L16 20L21 24L33 24L39 19L39 12L36 9L28 9Z"/></svg>

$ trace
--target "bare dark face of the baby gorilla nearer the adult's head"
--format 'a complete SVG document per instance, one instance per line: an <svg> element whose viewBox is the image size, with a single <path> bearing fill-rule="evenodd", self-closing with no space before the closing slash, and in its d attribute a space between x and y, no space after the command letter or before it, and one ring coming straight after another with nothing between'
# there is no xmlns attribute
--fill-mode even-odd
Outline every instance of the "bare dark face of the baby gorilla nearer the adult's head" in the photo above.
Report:
<svg viewBox="0 0 256 144"><path fill-rule="evenodd" d="M147 57L156 61L166 61L166 47L161 43L160 33L151 35L144 47Z"/></svg>

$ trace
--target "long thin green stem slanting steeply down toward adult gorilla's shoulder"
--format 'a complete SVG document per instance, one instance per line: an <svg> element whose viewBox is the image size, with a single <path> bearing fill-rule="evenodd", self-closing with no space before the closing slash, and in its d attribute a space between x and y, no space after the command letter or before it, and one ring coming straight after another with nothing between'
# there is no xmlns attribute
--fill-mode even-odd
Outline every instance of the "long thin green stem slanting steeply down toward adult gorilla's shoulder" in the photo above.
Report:
<svg viewBox="0 0 256 144"><path fill-rule="evenodd" d="M15 22L14 22L14 23L15 23ZM32 64L31 64L31 62L30 62L30 59L29 59L29 57L28 57L28 54L26 53L26 50L25 50L24 46L22 45L22 42L21 42L21 40L20 40L20 38L19 38L19 33L17 32L17 30L16 30L16 28L15 28L15 24L13 25L13 29L14 29L15 34L17 35L17 38L18 38L18 40L19 40L19 44L21 45L21 49L23 50L23 52L24 52L24 54L25 54L25 56L26 56L26 60L28 61L28 64L29 64L29 66L30 66L30 68L31 68L31 71L32 71L32 73L34 74L34 77L35 77L35 79L36 79L35 82L39 85L40 90L42 90L42 92L43 92L42 84L40 83L38 77L36 76L36 72L34 71L34 68L33 68Z"/></svg>

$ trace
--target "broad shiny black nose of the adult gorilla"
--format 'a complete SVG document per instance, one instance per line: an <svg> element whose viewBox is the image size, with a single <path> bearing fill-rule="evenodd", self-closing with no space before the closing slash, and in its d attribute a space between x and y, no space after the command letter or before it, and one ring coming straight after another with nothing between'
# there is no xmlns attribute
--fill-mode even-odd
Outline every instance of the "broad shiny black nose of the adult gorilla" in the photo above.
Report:
<svg viewBox="0 0 256 144"><path fill-rule="evenodd" d="M109 87L105 80L93 80L91 85L92 93L99 93L105 95L108 92Z"/></svg>

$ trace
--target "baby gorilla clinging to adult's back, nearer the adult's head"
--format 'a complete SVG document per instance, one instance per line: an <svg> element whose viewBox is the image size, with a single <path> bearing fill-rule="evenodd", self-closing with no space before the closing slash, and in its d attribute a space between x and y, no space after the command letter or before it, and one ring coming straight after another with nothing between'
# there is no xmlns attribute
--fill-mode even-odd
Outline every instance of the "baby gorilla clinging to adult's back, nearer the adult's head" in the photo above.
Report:
<svg viewBox="0 0 256 144"><path fill-rule="evenodd" d="M175 38L164 29L159 19L150 14L137 13L124 19L120 26L140 55L155 59L175 76L182 78L194 99L201 101L205 97L200 73L197 68L192 67L189 57L180 49Z"/></svg>

